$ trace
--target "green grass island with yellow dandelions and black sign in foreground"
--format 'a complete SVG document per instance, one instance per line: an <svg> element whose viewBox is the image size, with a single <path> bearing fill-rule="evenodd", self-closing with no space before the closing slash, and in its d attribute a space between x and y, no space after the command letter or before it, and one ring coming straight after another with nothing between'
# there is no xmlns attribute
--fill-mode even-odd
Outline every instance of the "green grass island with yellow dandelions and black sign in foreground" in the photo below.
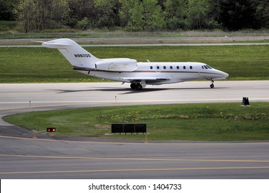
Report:
<svg viewBox="0 0 269 193"><path fill-rule="evenodd" d="M246 141L269 140L269 103L202 103L135 105L83 108L14 114L5 121L56 134L97 136L109 139L143 140L142 134L110 133L111 123L147 123L149 140L157 141Z"/></svg>

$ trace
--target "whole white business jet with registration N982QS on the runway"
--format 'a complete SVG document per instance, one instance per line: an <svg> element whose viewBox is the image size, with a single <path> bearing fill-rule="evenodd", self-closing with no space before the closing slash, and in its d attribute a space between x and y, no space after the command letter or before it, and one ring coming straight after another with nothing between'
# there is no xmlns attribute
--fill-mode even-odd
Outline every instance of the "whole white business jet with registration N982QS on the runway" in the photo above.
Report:
<svg viewBox="0 0 269 193"><path fill-rule="evenodd" d="M135 59L97 59L70 39L56 39L42 43L43 47L56 48L71 63L73 70L92 77L131 83L132 89L146 85L179 83L198 79L214 81L226 79L228 74L198 62L137 62Z"/></svg>

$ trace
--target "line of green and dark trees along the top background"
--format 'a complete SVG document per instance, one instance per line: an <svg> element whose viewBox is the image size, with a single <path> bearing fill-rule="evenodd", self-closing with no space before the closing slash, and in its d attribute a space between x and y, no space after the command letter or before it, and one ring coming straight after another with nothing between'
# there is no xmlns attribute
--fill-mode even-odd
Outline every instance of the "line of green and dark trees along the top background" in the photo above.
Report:
<svg viewBox="0 0 269 193"><path fill-rule="evenodd" d="M23 32L264 29L269 0L0 0L0 20Z"/></svg>

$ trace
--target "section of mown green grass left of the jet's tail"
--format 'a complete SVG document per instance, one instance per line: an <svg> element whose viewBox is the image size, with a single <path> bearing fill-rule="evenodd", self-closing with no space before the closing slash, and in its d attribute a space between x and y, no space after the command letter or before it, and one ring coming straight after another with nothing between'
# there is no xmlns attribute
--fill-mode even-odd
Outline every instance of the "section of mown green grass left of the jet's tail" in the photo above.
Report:
<svg viewBox="0 0 269 193"><path fill-rule="evenodd" d="M74 72L58 50L0 48L1 83L57 83L100 81Z"/></svg>

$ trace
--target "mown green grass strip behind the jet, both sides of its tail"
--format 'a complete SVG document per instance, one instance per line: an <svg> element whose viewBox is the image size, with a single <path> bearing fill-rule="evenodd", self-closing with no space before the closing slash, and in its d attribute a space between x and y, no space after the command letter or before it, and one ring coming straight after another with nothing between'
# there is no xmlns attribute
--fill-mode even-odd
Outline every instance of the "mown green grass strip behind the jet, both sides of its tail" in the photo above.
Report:
<svg viewBox="0 0 269 193"><path fill-rule="evenodd" d="M199 61L230 74L228 80L268 80L269 45L86 48L103 58L137 61ZM0 83L100 81L74 72L58 50L0 48Z"/></svg>

